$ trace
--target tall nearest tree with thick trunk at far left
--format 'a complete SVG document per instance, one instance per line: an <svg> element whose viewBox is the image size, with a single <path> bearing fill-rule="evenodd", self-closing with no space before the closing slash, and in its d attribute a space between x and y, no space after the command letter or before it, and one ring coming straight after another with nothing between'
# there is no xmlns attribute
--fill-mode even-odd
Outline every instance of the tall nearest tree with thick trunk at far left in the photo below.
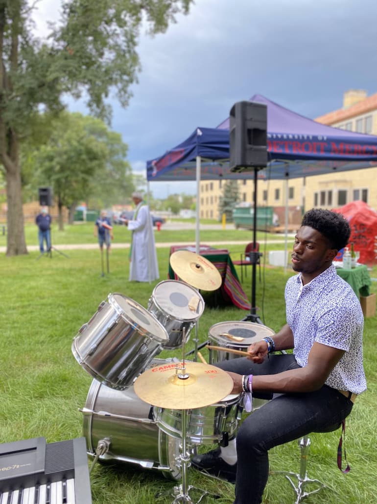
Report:
<svg viewBox="0 0 377 504"><path fill-rule="evenodd" d="M85 96L89 110L110 119L115 90L127 106L140 70L143 23L163 32L192 0L65 0L61 24L45 42L32 36L28 0L0 0L0 161L7 181L7 255L27 254L22 213L20 144L41 106L61 111L61 97Z"/></svg>

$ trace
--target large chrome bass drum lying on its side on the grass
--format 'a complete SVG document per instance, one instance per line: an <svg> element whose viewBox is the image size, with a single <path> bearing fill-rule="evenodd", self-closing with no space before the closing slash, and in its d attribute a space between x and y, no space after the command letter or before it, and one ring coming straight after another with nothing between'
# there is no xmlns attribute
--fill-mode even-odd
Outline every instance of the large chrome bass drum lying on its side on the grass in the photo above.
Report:
<svg viewBox="0 0 377 504"><path fill-rule="evenodd" d="M151 365L167 361L171 359L153 359ZM133 386L120 391L93 380L80 411L89 457L96 457L98 443L105 440L109 450L100 455L100 462L134 464L180 479L180 440L159 429L153 407L135 394Z"/></svg>

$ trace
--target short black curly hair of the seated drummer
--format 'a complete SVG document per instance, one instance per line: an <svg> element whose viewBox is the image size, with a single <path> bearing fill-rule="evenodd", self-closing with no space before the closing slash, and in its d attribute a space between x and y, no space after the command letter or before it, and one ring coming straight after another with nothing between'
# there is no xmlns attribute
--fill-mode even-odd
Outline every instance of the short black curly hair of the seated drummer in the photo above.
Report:
<svg viewBox="0 0 377 504"><path fill-rule="evenodd" d="M323 208L313 208L306 212L301 225L319 231L327 239L330 248L336 250L345 247L351 235L350 225L342 214Z"/></svg>

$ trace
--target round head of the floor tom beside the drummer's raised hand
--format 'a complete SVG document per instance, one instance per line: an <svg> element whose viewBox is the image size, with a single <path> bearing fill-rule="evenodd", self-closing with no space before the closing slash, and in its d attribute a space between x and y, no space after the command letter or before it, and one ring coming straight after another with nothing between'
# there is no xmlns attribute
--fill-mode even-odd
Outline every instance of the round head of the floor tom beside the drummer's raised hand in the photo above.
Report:
<svg viewBox="0 0 377 504"><path fill-rule="evenodd" d="M266 336L272 337L274 332L267 326L254 322L219 322L209 331L210 336L221 346L248 347L251 343L260 341ZM242 339L241 339L242 338Z"/></svg>

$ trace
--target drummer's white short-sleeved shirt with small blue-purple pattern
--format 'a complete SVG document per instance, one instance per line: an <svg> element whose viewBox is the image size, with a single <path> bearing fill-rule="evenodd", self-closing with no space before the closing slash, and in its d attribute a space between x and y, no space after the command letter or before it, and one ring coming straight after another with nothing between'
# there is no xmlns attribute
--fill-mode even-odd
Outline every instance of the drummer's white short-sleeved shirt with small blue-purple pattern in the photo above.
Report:
<svg viewBox="0 0 377 504"><path fill-rule="evenodd" d="M297 363L305 367L313 343L345 350L325 384L360 394L366 389L362 365L364 318L357 296L334 266L302 285L301 274L286 285L287 323Z"/></svg>

